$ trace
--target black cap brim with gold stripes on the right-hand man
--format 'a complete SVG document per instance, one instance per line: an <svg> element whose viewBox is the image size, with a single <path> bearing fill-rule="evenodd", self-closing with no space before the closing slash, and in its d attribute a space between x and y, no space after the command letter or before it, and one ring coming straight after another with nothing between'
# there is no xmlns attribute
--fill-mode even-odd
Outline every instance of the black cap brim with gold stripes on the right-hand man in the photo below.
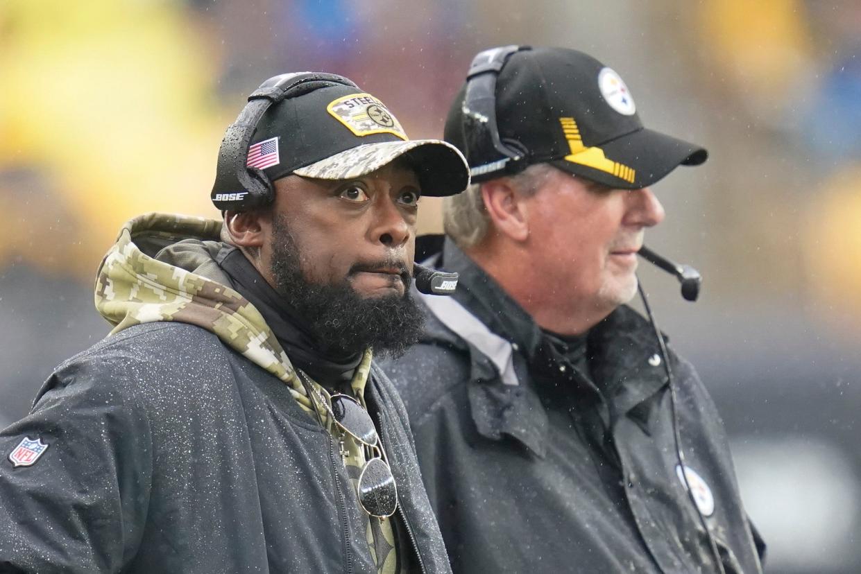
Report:
<svg viewBox="0 0 861 574"><path fill-rule="evenodd" d="M708 157L699 145L641 128L550 163L610 188L641 189L659 182L678 165L703 164Z"/></svg>

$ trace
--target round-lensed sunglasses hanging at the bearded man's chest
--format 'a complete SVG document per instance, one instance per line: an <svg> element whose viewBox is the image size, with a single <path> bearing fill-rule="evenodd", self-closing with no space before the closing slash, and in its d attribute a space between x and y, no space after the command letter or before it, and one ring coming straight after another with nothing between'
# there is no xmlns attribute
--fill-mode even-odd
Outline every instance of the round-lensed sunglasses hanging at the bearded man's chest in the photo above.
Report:
<svg viewBox="0 0 861 574"><path fill-rule="evenodd" d="M342 393L331 395L331 403L313 385L307 374L296 371L309 395L319 399L326 413L331 417L338 430L359 442L365 449L365 464L359 474L356 495L365 512L377 518L387 518L398 509L398 488L394 475L388 465L386 451L383 450L380 435L377 434L374 420L356 398ZM312 401L312 404L316 403ZM316 406L314 411L317 412ZM319 412L317 412L319 417ZM320 420L322 424L322 420ZM368 458L370 454L370 458ZM343 456L343 447L342 447Z"/></svg>

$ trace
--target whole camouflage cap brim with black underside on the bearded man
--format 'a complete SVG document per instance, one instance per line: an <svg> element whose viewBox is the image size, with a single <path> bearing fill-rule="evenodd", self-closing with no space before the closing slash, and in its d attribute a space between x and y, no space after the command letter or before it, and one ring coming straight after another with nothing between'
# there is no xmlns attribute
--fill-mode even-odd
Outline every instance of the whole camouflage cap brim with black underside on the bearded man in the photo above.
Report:
<svg viewBox="0 0 861 574"><path fill-rule="evenodd" d="M412 161L424 195L459 194L469 185L466 159L454 145L440 139L359 145L294 170L293 173L316 179L351 179L379 170L405 154Z"/></svg>

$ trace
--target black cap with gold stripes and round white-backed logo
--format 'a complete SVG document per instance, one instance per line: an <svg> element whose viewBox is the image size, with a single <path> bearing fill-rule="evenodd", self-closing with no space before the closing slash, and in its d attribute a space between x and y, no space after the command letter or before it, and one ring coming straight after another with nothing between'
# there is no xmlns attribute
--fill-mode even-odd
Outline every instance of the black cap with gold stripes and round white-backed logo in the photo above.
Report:
<svg viewBox="0 0 861 574"><path fill-rule="evenodd" d="M464 121L468 85L449 110L444 138L463 151L473 181L504 176L486 169L501 156L476 145L476 124ZM509 170L549 163L611 188L639 189L708 157L699 145L643 127L616 71L567 48L511 53L496 79L495 110L502 144L523 156Z"/></svg>

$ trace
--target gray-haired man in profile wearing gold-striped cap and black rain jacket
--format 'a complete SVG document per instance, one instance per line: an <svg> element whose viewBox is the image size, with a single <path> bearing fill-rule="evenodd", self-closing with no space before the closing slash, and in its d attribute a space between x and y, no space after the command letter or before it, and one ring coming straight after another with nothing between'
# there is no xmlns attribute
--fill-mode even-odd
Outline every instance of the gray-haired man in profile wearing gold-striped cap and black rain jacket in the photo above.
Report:
<svg viewBox="0 0 861 574"><path fill-rule="evenodd" d="M453 569L760 571L708 392L624 305L664 219L649 186L706 152L561 48L479 54L445 139L479 182L432 260L461 282L387 369Z"/></svg>

